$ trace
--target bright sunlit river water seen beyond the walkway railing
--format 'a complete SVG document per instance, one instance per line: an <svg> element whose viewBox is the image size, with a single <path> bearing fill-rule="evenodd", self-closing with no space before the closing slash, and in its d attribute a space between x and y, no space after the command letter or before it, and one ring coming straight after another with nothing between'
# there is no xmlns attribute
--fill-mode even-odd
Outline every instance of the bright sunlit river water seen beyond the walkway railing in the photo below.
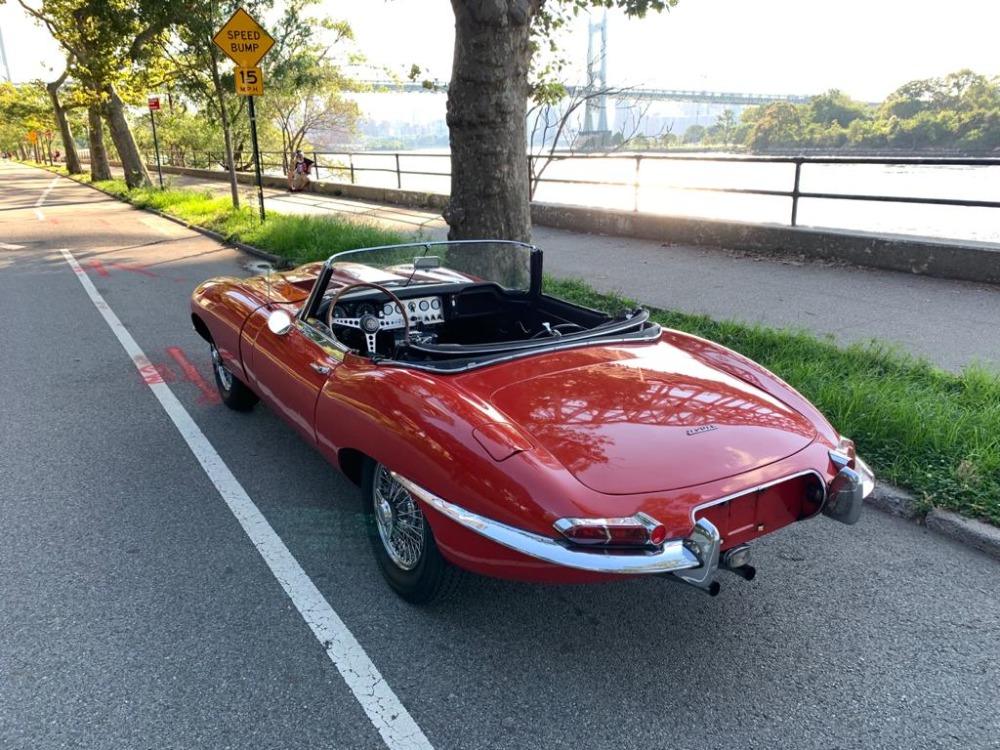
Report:
<svg viewBox="0 0 1000 750"><path fill-rule="evenodd" d="M444 195L450 192L450 164L446 154L402 152L398 161L403 174L398 178L396 159L396 154L355 155L355 182ZM791 192L795 166L702 159L637 160L631 155L578 157L551 162L543 180L535 200L545 203L788 226L792 215L789 197L704 189ZM998 201L1000 163L990 166L807 163L802 167L799 189L840 195ZM803 227L1000 245L1000 208L803 198L799 201L796 223Z"/></svg>

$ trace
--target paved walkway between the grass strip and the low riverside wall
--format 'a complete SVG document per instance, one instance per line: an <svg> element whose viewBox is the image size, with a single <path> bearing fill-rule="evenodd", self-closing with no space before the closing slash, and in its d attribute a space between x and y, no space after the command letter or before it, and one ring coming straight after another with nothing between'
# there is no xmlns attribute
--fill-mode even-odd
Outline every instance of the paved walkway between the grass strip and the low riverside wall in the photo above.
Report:
<svg viewBox="0 0 1000 750"><path fill-rule="evenodd" d="M170 180L229 191L227 184L208 180ZM265 189L264 194L268 212L336 213L427 238L447 234L434 211L312 193ZM256 188L244 188L243 195L257 205ZM648 305L802 328L841 344L876 339L949 370L979 362L1000 372L998 286L542 226L533 235L545 251L548 271Z"/></svg>

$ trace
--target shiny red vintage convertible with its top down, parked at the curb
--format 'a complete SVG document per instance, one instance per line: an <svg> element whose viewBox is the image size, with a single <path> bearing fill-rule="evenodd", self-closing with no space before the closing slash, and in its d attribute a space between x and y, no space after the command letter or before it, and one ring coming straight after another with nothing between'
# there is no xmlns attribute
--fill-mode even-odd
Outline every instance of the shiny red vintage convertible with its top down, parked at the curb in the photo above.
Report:
<svg viewBox="0 0 1000 750"><path fill-rule="evenodd" d="M539 582L664 576L718 592L749 544L853 524L874 477L805 398L745 357L545 293L542 251L366 248L199 286L224 403L263 400L360 485L412 602L461 570Z"/></svg>

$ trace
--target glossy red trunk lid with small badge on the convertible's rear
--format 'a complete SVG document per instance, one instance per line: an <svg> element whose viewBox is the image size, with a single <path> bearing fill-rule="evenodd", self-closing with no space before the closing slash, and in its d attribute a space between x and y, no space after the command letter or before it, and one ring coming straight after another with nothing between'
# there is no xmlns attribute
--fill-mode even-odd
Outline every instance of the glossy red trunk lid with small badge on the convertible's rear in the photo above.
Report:
<svg viewBox="0 0 1000 750"><path fill-rule="evenodd" d="M779 461L812 423L691 357L623 359L552 372L493 392L493 405L598 492L674 490Z"/></svg>

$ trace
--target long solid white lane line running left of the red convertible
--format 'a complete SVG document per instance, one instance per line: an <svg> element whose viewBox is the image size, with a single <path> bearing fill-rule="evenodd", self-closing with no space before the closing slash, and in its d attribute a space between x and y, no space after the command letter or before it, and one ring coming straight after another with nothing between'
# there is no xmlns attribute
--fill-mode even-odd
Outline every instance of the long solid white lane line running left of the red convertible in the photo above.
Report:
<svg viewBox="0 0 1000 750"><path fill-rule="evenodd" d="M344 682L354 693L358 703L368 715L372 725L382 735L390 750L433 750L433 746L417 723L410 716L399 698L382 678L376 666L361 648L354 634L347 629L343 620L323 598L319 589L289 552L281 537L271 528L253 500L233 476L212 444L199 429L187 410L177 400L173 391L163 382L156 367L149 361L135 339L122 325L118 316L104 301L101 293L91 282L86 271L80 266L69 250L60 250L66 262L76 273L84 290L94 306L100 311L105 322L118 338L122 348L132 358L133 364L143 380L159 400L167 416L177 427L191 452L208 474L212 484L226 501L226 505L240 522L250 541L260 552L271 569L271 573L281 584L298 609L302 619L312 629L313 634L326 649L330 661L340 672Z"/></svg>

